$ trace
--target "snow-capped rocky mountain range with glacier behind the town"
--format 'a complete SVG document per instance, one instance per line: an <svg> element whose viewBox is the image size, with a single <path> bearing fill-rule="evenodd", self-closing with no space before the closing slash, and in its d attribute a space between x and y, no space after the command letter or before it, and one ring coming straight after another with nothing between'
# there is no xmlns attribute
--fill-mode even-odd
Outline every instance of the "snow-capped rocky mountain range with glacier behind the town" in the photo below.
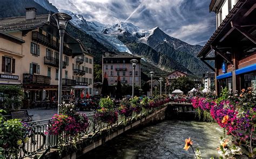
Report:
<svg viewBox="0 0 256 159"><path fill-rule="evenodd" d="M95 62L98 64L101 63L102 56L99 50L111 50L142 57L142 71L145 75L148 75L152 68L162 75L173 70L180 70L201 76L206 71L210 71L210 68L196 56L203 46L187 44L166 34L159 27L143 30L127 22L108 25L97 21L86 21L81 14L57 9L48 0L3 1L6 1L2 3L3 5L14 3L14 7L10 9L13 13L4 12L2 17L25 15L24 8L31 6L37 8L37 13L49 13L50 11L68 13L72 17L71 26L78 28L69 27L68 31L75 37L80 37L84 45L92 49L92 53L96 54Z"/></svg>

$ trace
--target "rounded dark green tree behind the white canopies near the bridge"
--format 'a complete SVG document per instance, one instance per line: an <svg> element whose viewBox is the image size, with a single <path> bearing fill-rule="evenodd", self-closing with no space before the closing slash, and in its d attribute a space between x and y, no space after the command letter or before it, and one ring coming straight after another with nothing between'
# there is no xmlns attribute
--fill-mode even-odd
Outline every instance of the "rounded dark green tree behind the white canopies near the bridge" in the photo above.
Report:
<svg viewBox="0 0 256 159"><path fill-rule="evenodd" d="M193 79L190 77L179 77L177 79L173 79L171 85L169 86L169 91L172 92L176 89L183 91L185 94L192 90L195 87Z"/></svg>

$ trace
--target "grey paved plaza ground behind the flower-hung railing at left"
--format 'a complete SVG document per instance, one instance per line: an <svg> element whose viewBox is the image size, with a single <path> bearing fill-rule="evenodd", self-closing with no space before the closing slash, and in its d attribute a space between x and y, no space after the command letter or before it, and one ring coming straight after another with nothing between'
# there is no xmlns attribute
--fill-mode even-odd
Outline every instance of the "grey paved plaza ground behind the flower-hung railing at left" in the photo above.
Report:
<svg viewBox="0 0 256 159"><path fill-rule="evenodd" d="M93 113L92 111L79 111L83 113ZM39 110L39 109L30 109L28 110L29 115L33 115L33 120L44 120L44 119L51 119L54 114L57 114L56 109L51 110Z"/></svg>

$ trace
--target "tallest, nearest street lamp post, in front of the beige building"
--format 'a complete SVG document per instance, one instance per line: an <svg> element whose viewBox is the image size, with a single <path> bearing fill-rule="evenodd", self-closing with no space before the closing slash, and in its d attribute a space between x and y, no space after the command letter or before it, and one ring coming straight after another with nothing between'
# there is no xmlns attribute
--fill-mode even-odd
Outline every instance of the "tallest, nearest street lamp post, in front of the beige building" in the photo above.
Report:
<svg viewBox="0 0 256 159"><path fill-rule="evenodd" d="M59 30L59 81L58 81L58 114L59 114L59 105L62 103L62 55L63 55L63 41L64 34L66 30L66 25L68 25L68 21L72 19L66 13L58 12L52 15L55 18L56 23L58 25Z"/></svg>

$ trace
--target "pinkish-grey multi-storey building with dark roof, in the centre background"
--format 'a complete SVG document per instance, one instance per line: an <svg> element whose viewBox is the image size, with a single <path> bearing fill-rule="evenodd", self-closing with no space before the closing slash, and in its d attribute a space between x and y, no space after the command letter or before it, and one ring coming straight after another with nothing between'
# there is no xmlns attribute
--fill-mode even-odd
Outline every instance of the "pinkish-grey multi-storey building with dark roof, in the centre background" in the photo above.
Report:
<svg viewBox="0 0 256 159"><path fill-rule="evenodd" d="M109 53L106 52L102 57L103 75L107 74L107 81L109 85L117 83L117 78L120 76L122 84L132 85L132 64L131 60L136 59L138 63L134 71L134 84L140 86L141 84L141 68L140 57L129 53ZM104 79L104 77L102 77Z"/></svg>

